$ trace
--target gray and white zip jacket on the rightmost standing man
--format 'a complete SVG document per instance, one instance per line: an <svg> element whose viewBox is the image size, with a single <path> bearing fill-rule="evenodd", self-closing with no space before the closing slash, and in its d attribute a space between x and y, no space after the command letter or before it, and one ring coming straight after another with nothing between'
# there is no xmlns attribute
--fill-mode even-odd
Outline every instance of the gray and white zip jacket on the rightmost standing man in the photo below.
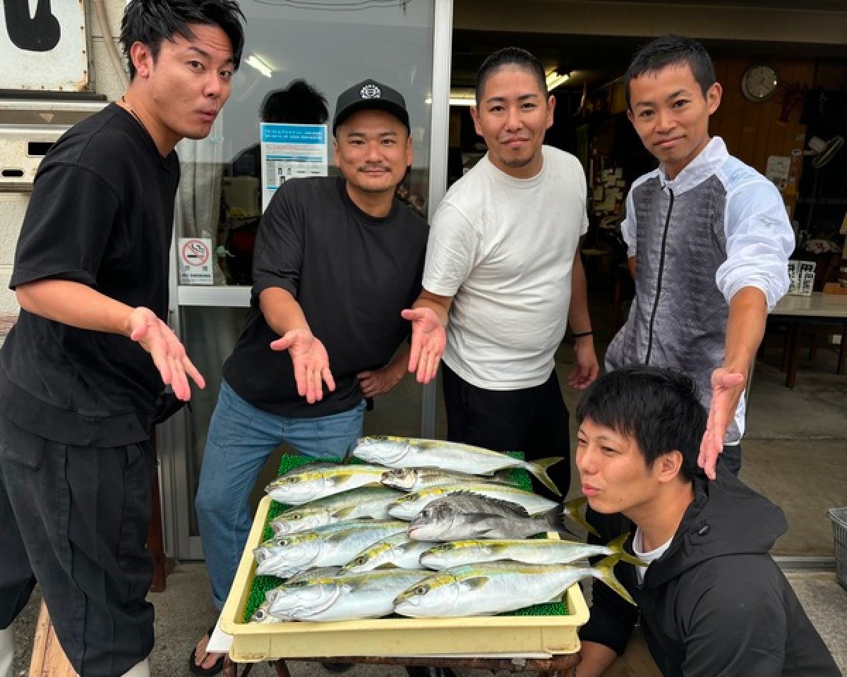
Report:
<svg viewBox="0 0 847 677"><path fill-rule="evenodd" d="M635 298L606 370L637 362L685 372L708 409L729 301L756 287L772 311L788 291L794 232L782 196L716 136L675 179L660 167L636 180L621 228L637 256ZM726 443L738 443L744 420L742 397Z"/></svg>

